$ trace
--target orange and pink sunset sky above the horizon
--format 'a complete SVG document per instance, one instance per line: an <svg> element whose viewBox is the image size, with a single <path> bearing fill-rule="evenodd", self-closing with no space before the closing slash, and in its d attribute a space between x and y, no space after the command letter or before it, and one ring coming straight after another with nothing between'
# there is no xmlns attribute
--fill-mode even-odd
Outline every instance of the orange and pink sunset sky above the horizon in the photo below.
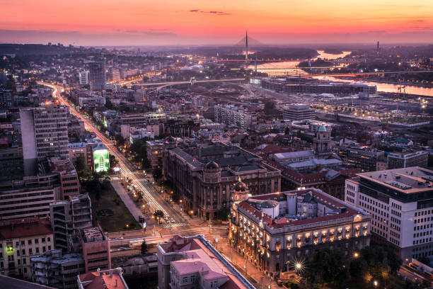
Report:
<svg viewBox="0 0 433 289"><path fill-rule="evenodd" d="M433 42L432 0L0 0L0 42Z"/></svg>

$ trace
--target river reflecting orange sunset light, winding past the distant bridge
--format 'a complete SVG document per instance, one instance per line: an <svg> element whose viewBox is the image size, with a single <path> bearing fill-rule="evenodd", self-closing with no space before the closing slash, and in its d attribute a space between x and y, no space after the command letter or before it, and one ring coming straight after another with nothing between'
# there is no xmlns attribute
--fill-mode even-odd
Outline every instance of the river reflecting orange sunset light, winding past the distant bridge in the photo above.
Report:
<svg viewBox="0 0 433 289"><path fill-rule="evenodd" d="M347 55L350 55L352 53L351 51L343 51L340 54L333 55L330 53L325 53L323 50L318 50L318 56L312 60L317 60L320 58L326 58L328 60L335 60L340 57L346 57ZM270 62L270 63L264 63L264 64L258 64L257 71L258 72L264 72L264 73L272 73L272 72L288 72L288 74L293 76L298 75L308 75L307 72L304 72L302 69L295 69L296 65L299 64L299 61L286 61L286 62ZM248 68L254 69L254 65L250 65ZM260 68L262 70L260 70ZM273 70L272 68L275 68ZM287 68L287 69L284 69ZM373 84L377 86L377 91L383 91L383 92L391 92L395 93L398 92L398 84L385 84L381 82L374 82L374 81L357 81L357 80L351 80L351 79L337 79L335 77L315 77L316 79L325 79L329 81L345 81L345 82L362 82L364 84ZM405 93L406 94L416 94L420 96L433 96L433 88L428 87L422 87L422 86L405 86Z"/></svg>

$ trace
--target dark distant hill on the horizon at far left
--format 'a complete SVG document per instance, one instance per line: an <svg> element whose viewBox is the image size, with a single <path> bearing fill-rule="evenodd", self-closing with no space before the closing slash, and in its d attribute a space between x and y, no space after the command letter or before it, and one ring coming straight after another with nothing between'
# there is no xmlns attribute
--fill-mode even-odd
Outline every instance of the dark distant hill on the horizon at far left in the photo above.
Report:
<svg viewBox="0 0 433 289"><path fill-rule="evenodd" d="M69 47L42 44L0 44L0 55L62 55L71 50Z"/></svg>

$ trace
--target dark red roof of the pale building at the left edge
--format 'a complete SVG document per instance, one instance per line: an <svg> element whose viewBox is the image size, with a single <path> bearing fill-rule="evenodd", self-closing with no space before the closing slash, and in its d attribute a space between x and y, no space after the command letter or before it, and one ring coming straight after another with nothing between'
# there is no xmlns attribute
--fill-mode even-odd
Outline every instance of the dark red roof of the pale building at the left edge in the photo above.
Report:
<svg viewBox="0 0 433 289"><path fill-rule="evenodd" d="M52 234L50 221L38 218L8 220L0 223L0 239Z"/></svg>

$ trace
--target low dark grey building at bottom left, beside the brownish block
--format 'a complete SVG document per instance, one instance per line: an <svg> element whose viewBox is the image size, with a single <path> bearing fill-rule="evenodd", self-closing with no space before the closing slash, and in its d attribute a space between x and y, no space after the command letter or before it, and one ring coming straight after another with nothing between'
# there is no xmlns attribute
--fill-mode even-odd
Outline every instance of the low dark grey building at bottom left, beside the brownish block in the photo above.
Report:
<svg viewBox="0 0 433 289"><path fill-rule="evenodd" d="M50 250L33 256L30 263L33 282L59 289L77 288L76 276L85 273L84 259L79 253Z"/></svg>

